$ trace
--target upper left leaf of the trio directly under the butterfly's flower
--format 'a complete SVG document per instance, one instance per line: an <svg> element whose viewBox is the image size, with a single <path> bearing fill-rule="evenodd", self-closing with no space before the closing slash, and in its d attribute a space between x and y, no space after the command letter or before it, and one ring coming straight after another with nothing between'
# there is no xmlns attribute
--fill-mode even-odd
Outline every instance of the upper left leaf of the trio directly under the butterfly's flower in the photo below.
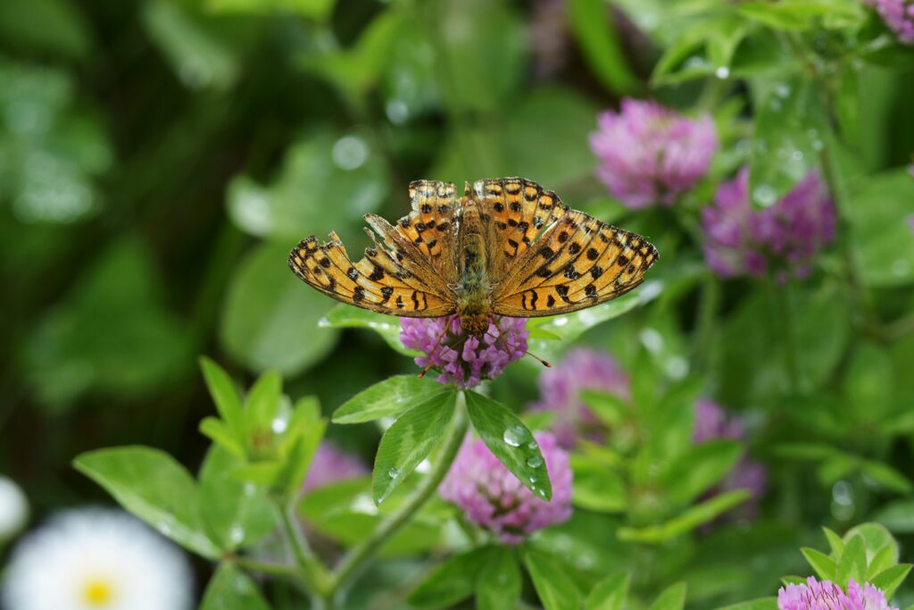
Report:
<svg viewBox="0 0 914 610"><path fill-rule="evenodd" d="M441 398L453 389L416 375L398 375L378 381L341 404L334 423L364 423L394 417L420 402Z"/></svg>

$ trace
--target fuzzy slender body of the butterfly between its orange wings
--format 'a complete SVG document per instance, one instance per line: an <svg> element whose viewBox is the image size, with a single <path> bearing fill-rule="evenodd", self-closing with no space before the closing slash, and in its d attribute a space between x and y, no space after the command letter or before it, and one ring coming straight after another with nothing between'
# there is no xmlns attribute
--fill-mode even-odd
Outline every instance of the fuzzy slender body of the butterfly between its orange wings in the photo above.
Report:
<svg viewBox="0 0 914 610"><path fill-rule="evenodd" d="M486 273L483 223L473 199L464 199L460 224L460 284L457 287L457 315L463 332L482 337L489 329L492 313L492 284Z"/></svg>

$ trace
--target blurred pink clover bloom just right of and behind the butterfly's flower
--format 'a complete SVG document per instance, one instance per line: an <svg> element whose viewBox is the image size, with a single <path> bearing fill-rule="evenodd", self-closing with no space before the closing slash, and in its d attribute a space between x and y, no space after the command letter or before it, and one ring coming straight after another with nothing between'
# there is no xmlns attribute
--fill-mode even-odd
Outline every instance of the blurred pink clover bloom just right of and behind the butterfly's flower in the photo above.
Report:
<svg viewBox="0 0 914 610"><path fill-rule="evenodd" d="M555 412L550 428L558 444L573 447L579 437L600 440L605 431L587 405L579 398L582 390L598 390L631 399L628 375L609 354L577 348L552 369L544 370L538 380L539 401L531 409Z"/></svg>

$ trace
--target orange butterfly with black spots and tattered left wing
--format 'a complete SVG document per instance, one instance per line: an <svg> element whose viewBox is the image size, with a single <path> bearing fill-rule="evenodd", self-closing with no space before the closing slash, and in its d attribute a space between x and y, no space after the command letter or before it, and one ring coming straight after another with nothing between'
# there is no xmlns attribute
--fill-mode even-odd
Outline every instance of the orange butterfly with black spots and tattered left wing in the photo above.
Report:
<svg viewBox="0 0 914 610"><path fill-rule="evenodd" d="M335 232L289 253L305 283L349 305L393 316L457 314L482 337L490 316L565 314L643 282L657 250L632 231L562 205L519 177L409 184L412 211L391 225L368 214L373 245L353 262Z"/></svg>

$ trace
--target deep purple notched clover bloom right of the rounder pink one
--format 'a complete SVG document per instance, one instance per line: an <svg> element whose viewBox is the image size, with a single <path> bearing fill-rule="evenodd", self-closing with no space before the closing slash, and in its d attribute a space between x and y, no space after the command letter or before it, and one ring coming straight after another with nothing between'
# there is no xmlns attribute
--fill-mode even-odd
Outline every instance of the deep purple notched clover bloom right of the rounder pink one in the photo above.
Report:
<svg viewBox="0 0 914 610"><path fill-rule="evenodd" d="M743 167L702 210L705 260L724 277L769 272L781 282L804 277L815 253L834 239L835 221L818 173L809 173L771 208L756 210L749 202L749 168Z"/></svg>

